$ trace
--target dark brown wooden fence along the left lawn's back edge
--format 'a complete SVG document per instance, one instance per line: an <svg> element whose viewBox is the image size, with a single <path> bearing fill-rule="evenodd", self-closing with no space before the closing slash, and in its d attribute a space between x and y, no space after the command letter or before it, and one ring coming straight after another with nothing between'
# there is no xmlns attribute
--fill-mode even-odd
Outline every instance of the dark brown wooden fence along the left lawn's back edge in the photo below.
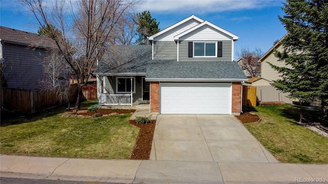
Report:
<svg viewBox="0 0 328 184"><path fill-rule="evenodd" d="M69 96L76 100L76 85L70 86ZM1 109L17 112L34 113L60 104L57 95L49 90L1 88L0 98Z"/></svg>

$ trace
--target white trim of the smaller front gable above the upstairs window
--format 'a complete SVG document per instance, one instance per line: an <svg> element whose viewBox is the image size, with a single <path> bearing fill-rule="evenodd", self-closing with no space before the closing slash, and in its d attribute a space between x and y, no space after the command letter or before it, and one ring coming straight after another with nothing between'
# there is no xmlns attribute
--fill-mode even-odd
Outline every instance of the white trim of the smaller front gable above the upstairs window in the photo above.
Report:
<svg viewBox="0 0 328 184"><path fill-rule="evenodd" d="M189 29L189 30L187 30L185 32L182 32L182 33L174 36L174 40L179 40L181 37L183 37L183 36L185 36L185 35L193 32L193 31L195 31L197 29L201 29L201 28L208 28L207 31L212 31L212 34L213 34L213 32L220 33L219 35L221 35L221 37L222 36L223 37L226 37L226 38L229 38L230 37L230 39L232 39L232 40L238 40L239 39L238 36L230 33L229 31L224 30L224 29L222 29L222 28L220 28L220 27L212 24L209 21L204 21L201 24L199 24L199 25L197 25L197 26L195 26L195 27L193 27L193 28L191 28L191 29ZM206 31L205 31L204 34L208 34L208 33L206 33ZM215 40L217 40L217 38Z"/></svg>

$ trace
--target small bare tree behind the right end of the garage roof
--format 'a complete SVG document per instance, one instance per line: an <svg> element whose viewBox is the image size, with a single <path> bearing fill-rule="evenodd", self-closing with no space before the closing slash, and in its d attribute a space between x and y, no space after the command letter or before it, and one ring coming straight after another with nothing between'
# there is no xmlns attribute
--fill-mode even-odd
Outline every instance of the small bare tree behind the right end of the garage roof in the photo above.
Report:
<svg viewBox="0 0 328 184"><path fill-rule="evenodd" d="M240 58L238 64L240 67L247 71L248 77L258 77L261 75L261 63L258 61L262 56L261 49L255 48L251 51L250 48L242 48L240 52L237 52L237 56Z"/></svg>

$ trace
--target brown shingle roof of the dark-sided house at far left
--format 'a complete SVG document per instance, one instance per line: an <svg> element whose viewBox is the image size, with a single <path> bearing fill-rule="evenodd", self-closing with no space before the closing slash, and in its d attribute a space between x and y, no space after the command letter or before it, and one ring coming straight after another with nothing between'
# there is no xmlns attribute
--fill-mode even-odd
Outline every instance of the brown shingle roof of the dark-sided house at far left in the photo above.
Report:
<svg viewBox="0 0 328 184"><path fill-rule="evenodd" d="M55 41L47 36L15 30L0 26L0 39L2 42L10 42L39 48L54 48Z"/></svg>

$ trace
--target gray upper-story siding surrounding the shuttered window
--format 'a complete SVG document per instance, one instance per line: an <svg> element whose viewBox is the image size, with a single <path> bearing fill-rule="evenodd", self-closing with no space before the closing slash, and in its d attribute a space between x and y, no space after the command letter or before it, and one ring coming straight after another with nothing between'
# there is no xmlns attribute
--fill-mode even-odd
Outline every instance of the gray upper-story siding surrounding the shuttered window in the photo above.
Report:
<svg viewBox="0 0 328 184"><path fill-rule="evenodd" d="M197 40L195 40L197 41ZM232 61L232 41L222 41L222 57L188 57L188 42L181 41L179 44L179 61Z"/></svg>

